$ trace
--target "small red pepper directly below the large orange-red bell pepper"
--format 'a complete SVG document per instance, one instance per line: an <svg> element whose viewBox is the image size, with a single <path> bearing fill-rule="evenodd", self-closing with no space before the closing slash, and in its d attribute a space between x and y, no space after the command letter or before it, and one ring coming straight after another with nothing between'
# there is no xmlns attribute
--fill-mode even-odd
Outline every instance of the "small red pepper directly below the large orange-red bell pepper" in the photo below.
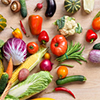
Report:
<svg viewBox="0 0 100 100"><path fill-rule="evenodd" d="M39 42L41 42L42 44L46 44L46 42L49 41L49 36L48 36L47 32L43 30L43 31L39 34L38 40L39 40Z"/></svg>

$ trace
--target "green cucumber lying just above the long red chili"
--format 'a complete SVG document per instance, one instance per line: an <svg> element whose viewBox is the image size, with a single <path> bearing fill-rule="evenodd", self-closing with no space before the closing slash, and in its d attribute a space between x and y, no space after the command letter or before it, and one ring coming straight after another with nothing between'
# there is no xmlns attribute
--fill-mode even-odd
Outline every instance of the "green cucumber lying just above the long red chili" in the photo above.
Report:
<svg viewBox="0 0 100 100"><path fill-rule="evenodd" d="M58 79L56 81L57 85L63 85L69 82L75 82L75 81L86 81L86 78L83 75L73 75L65 77L64 79Z"/></svg>

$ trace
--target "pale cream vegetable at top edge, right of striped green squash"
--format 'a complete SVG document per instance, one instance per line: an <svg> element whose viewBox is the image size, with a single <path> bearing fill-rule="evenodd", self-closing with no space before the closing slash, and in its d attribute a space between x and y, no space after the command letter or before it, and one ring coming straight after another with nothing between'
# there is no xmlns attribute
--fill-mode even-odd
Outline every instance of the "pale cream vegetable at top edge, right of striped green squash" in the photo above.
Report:
<svg viewBox="0 0 100 100"><path fill-rule="evenodd" d="M90 13L94 8L94 0L83 0L83 7L86 13Z"/></svg>

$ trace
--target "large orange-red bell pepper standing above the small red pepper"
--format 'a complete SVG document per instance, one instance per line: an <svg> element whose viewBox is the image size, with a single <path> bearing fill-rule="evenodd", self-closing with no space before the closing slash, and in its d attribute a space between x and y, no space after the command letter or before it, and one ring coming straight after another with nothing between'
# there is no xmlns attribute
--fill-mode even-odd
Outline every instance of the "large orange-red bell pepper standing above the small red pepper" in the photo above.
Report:
<svg viewBox="0 0 100 100"><path fill-rule="evenodd" d="M29 28L33 35L39 35L42 29L43 18L39 15L30 15L28 18Z"/></svg>

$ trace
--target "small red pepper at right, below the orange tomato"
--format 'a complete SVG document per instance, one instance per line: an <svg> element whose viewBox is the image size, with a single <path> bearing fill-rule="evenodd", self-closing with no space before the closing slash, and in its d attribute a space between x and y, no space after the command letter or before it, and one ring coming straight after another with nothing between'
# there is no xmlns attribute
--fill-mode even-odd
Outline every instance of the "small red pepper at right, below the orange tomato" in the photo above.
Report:
<svg viewBox="0 0 100 100"><path fill-rule="evenodd" d="M91 29L89 29L86 33L87 42L93 43L97 39L97 37L98 37L97 34Z"/></svg>

